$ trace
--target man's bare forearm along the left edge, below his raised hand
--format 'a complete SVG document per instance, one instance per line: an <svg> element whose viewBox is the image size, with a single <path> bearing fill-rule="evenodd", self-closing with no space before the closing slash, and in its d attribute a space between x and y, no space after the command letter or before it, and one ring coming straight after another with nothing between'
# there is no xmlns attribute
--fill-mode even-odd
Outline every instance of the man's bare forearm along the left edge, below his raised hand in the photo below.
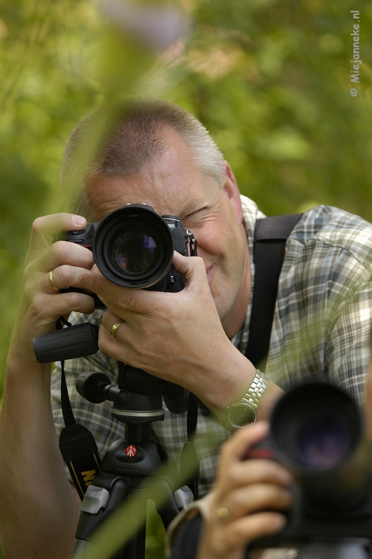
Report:
<svg viewBox="0 0 372 559"><path fill-rule="evenodd" d="M69 557L78 506L52 419L50 365L25 372L12 355L0 413L0 502L6 559Z"/></svg>

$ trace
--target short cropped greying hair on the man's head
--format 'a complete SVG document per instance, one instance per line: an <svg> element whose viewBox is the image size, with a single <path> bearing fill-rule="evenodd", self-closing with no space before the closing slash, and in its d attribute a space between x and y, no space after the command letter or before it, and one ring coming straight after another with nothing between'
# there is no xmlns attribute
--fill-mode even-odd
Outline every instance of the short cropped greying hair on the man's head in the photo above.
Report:
<svg viewBox="0 0 372 559"><path fill-rule="evenodd" d="M105 119L99 147L87 165L81 157L87 143L94 141L95 126ZM168 145L164 131L176 131L192 152L201 173L212 176L217 186L225 180L224 157L205 126L189 112L166 101L130 99L111 108L101 107L87 115L66 143L60 180L69 196L69 210L94 220L94 210L85 190L87 177L141 176Z"/></svg>

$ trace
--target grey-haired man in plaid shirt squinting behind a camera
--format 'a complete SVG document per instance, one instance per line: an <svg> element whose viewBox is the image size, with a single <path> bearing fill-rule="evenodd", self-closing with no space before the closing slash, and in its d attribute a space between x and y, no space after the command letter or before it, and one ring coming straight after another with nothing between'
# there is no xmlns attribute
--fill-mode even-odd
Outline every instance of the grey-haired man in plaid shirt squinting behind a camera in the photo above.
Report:
<svg viewBox="0 0 372 559"><path fill-rule="evenodd" d="M76 177L75 214L36 219L31 233L1 409L0 532L7 559L65 558L73 547L78 499L55 436L55 423L62 423L58 375L52 378L52 413L51 366L36 363L31 346L34 337L55 329L61 315L93 312L89 294L61 289L93 291L108 307L103 316L95 312L90 318L97 324L101 319L99 354L66 364L77 421L92 430L102 452L122 436L107 404L76 396L73 385L82 370L105 370L115 379L115 360L120 360L184 386L204 405L196 430L201 494L213 480L217 460L203 448L206 435L220 441L229 436L208 410L226 424L227 408L253 384L259 386L257 418L265 419L282 394L279 383L287 389L320 372L362 398L372 227L327 207L311 210L297 224L287 243L266 368L271 379L266 380L244 356L255 270L252 237L262 214L248 198L241 199L231 168L206 130L168 103L129 104L110 122L92 165L74 175L73 154L89 143L92 122L90 117L73 133L62 168L62 184ZM127 203L176 215L193 231L199 257L173 258L185 275L180 293L117 286L93 267L89 250L53 243L55 233L83 229L85 218L100 221ZM167 412L158 423L153 424L157 440L171 460L179 458L185 414Z"/></svg>

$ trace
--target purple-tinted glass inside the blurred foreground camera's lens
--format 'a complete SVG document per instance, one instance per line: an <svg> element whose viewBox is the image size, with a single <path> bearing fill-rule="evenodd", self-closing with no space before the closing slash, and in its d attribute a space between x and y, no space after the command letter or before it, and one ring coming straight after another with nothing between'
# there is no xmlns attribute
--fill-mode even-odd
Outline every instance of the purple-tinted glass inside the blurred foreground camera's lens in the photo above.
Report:
<svg viewBox="0 0 372 559"><path fill-rule="evenodd" d="M321 413L304 421L296 435L299 463L324 470L334 467L351 446L345 417L336 413Z"/></svg>

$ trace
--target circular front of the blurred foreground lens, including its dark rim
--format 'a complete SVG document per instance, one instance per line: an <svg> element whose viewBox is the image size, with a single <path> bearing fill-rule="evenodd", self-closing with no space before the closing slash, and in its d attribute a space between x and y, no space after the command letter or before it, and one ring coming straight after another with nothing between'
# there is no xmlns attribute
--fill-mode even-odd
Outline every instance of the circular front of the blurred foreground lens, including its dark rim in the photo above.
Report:
<svg viewBox="0 0 372 559"><path fill-rule="evenodd" d="M336 386L309 383L279 400L271 416L273 440L294 470L331 470L352 453L360 438L357 406Z"/></svg>

